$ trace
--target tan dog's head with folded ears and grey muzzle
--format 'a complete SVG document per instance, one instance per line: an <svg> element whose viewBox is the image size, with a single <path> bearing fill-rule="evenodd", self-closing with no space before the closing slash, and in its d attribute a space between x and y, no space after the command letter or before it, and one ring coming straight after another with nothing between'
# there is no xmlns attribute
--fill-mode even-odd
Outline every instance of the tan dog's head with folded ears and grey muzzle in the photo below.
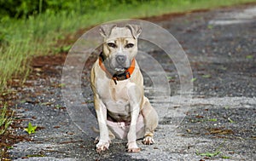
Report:
<svg viewBox="0 0 256 161"><path fill-rule="evenodd" d="M104 38L104 65L109 72L124 72L131 66L131 60L137 55L137 37L142 28L137 25L117 27L101 26L100 33Z"/></svg>

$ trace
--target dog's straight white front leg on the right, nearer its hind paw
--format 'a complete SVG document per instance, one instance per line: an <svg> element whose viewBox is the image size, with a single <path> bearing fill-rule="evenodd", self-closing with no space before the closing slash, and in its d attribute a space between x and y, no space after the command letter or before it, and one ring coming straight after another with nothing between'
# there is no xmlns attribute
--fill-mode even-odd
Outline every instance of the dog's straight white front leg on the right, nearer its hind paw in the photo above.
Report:
<svg viewBox="0 0 256 161"><path fill-rule="evenodd" d="M130 109L131 109L131 125L127 135L128 152L140 152L141 149L137 147L137 142L136 142L137 140L136 126L137 126L137 118L140 112L142 97L136 85L133 85L128 89L128 95L130 98Z"/></svg>

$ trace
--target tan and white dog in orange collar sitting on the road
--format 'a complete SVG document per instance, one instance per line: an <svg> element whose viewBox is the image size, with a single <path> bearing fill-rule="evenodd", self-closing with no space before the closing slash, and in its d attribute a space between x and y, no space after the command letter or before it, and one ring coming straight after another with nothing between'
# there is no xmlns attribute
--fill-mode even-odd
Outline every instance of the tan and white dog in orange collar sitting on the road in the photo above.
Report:
<svg viewBox="0 0 256 161"><path fill-rule="evenodd" d="M158 115L144 96L143 75L135 60L141 32L137 25L100 28L104 39L102 54L90 72L100 132L97 152L107 150L115 137L128 140L128 152L140 152L137 139L144 138L147 145L154 143Z"/></svg>

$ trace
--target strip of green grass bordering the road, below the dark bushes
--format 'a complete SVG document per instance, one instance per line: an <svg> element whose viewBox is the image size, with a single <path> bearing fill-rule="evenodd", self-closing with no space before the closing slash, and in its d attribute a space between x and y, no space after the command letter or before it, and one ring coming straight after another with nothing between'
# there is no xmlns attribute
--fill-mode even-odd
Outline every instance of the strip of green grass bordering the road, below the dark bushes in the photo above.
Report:
<svg viewBox="0 0 256 161"><path fill-rule="evenodd" d="M220 6L256 2L255 0L162 0L137 4L120 4L109 9L90 9L89 13L61 11L29 16L27 19L0 21L0 92L8 89L8 81L19 76L20 83L29 74L29 60L37 55L55 54L65 45L56 44L68 34L102 22L127 18L142 18L194 9L214 9ZM109 6L108 6L109 7Z"/></svg>

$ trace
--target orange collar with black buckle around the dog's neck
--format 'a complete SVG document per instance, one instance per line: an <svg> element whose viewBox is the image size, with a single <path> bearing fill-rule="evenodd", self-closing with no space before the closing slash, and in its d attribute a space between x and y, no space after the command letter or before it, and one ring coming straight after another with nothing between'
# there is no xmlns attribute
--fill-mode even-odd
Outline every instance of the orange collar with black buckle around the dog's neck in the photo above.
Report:
<svg viewBox="0 0 256 161"><path fill-rule="evenodd" d="M131 74L135 68L135 58L133 58L133 60L131 61L131 66L128 69L126 69L124 73L121 73L121 74L113 74L112 75L110 72L108 72L108 70L102 63L102 56L100 56L100 58L99 58L99 65L101 66L101 68L104 72L108 73L108 75L110 77L112 77L114 83L117 84L117 81L119 81L119 80L125 80L128 78L131 78Z"/></svg>

